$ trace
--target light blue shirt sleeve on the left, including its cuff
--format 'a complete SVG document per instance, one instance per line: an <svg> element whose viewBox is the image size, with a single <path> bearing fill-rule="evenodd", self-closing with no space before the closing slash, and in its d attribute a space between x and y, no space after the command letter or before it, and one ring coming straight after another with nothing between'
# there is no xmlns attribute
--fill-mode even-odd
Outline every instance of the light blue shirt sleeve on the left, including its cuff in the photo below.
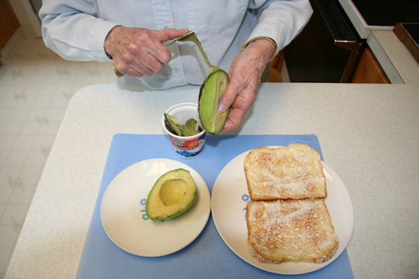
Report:
<svg viewBox="0 0 419 279"><path fill-rule="evenodd" d="M110 61L103 44L109 31L119 24L99 19L93 3L44 0L39 17L45 45L64 59Z"/></svg>

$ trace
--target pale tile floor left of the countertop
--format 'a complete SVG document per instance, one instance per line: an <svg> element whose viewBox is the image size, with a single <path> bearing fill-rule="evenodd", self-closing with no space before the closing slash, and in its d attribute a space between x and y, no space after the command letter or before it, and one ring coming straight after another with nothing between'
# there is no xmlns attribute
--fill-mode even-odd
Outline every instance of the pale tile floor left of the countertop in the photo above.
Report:
<svg viewBox="0 0 419 279"><path fill-rule="evenodd" d="M64 61L41 38L22 38L0 66L0 278L13 253L73 94L115 83L111 63Z"/></svg>

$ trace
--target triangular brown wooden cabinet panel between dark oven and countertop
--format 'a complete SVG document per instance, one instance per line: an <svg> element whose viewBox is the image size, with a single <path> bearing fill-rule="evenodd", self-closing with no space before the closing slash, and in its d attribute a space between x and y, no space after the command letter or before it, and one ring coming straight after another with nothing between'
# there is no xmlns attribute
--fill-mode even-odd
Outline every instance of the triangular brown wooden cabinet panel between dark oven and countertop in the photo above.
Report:
<svg viewBox="0 0 419 279"><path fill-rule="evenodd" d="M365 47L364 52L362 52L361 59L352 77L352 83L390 83L369 47Z"/></svg>

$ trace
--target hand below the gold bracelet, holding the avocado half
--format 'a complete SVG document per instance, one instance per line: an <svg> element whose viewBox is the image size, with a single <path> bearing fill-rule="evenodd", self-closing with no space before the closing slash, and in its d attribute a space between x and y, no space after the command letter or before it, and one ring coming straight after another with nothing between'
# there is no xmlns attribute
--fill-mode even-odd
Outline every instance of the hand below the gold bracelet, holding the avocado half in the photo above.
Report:
<svg viewBox="0 0 419 279"><path fill-rule="evenodd" d="M269 40L250 43L230 65L230 84L219 99L219 113L231 107L223 131L237 128L249 107L256 99L265 66L274 54L275 47Z"/></svg>

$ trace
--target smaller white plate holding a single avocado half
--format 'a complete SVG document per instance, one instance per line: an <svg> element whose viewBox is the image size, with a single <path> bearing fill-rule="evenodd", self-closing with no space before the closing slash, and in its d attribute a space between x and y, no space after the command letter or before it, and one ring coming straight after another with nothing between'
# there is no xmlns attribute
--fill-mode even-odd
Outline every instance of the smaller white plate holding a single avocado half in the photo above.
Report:
<svg viewBox="0 0 419 279"><path fill-rule="evenodd" d="M159 177L184 168L191 172L198 190L196 201L182 215L152 221L145 213L147 195ZM158 257L181 250L202 232L210 216L210 191L194 169L170 159L150 159L122 170L103 194L101 220L109 238L134 255Z"/></svg>

